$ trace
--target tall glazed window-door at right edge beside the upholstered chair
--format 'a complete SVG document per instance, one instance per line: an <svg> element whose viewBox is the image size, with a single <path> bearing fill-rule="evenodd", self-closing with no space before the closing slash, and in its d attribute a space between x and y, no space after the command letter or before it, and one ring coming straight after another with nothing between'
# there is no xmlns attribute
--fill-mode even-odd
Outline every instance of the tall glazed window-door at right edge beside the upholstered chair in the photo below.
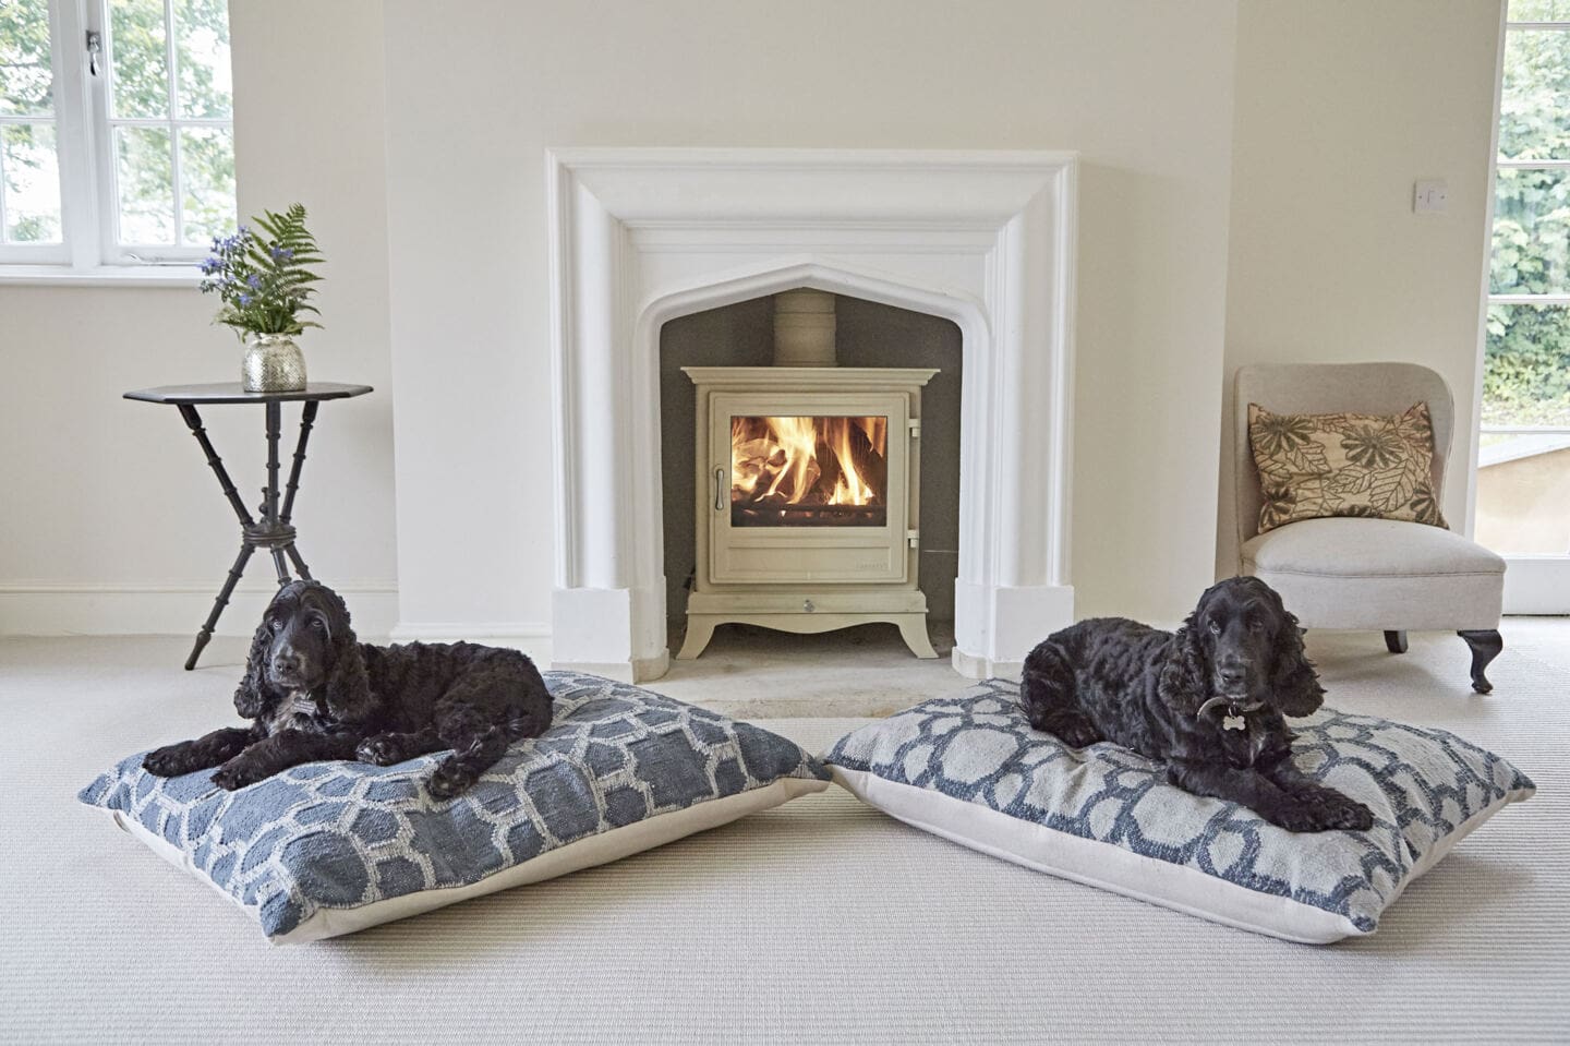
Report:
<svg viewBox="0 0 1570 1046"><path fill-rule="evenodd" d="M1476 529L1512 561L1507 611L1565 613L1570 0L1509 0L1506 19ZM1543 598L1528 598L1529 589Z"/></svg>

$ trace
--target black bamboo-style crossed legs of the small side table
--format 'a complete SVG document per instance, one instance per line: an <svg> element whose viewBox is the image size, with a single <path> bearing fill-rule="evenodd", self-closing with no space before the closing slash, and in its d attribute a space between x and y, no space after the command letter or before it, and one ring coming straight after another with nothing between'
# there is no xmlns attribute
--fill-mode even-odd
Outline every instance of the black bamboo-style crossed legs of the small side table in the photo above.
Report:
<svg viewBox="0 0 1570 1046"><path fill-rule="evenodd" d="M203 647L212 639L212 630L218 625L218 617L223 614L223 608L228 606L229 597L234 594L234 586L239 584L240 575L245 573L245 565L250 562L251 554L257 548L265 548L272 553L273 567L278 572L278 587L289 584L289 564L300 573L301 578L309 580L311 572L305 565L305 559L300 558L300 551L295 548L295 529L289 523L289 517L294 512L295 492L300 487L300 470L305 465L305 448L306 441L311 438L311 426L316 421L316 400L308 400L300 415L300 440L295 444L294 463L289 470L289 487L284 493L283 507L278 504L278 440L281 437L281 408L279 404L270 402L267 408L267 485L262 488L262 504L257 512L262 514L261 521L251 518L246 510L245 503L240 501L240 495L234 488L234 482L229 479L228 470L223 466L223 459L212 446L212 440L207 438L207 430L201 424L201 415L196 413L196 407L190 404L179 404L181 418L185 419L185 426L196 437L201 444L203 452L207 455L207 465L212 468L214 476L218 477L218 485L223 488L225 496L229 499L229 507L234 509L236 518L240 521L240 554L236 556L234 565L229 567L229 575L225 578L223 589L218 592L218 598L214 600L212 613L207 614L207 620L203 624L201 631L196 633L196 644L192 647L192 653L185 658L185 669L190 671L196 667L196 658L201 656Z"/></svg>

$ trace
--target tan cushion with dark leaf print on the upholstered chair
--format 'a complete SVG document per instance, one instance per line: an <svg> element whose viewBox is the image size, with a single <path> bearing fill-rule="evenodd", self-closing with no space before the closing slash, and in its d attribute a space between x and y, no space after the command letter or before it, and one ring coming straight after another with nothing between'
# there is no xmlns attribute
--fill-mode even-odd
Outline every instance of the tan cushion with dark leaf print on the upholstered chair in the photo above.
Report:
<svg viewBox="0 0 1570 1046"><path fill-rule="evenodd" d="M1446 526L1433 493L1429 405L1402 415L1273 415L1248 404L1259 532L1327 515Z"/></svg>

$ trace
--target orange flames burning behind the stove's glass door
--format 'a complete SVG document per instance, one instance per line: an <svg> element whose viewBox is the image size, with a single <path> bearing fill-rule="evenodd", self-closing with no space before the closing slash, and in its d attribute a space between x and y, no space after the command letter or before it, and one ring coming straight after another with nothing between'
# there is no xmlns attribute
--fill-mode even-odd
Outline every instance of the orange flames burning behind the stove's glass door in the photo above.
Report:
<svg viewBox="0 0 1570 1046"><path fill-rule="evenodd" d="M887 418L732 418L730 501L882 504Z"/></svg>

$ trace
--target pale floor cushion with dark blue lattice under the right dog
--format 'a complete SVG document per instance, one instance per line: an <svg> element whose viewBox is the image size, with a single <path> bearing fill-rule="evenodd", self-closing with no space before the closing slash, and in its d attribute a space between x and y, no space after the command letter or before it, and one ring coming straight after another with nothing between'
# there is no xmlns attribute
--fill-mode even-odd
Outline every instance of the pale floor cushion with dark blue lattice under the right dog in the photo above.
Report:
<svg viewBox="0 0 1570 1046"><path fill-rule="evenodd" d="M1444 730L1320 708L1294 760L1374 810L1366 832L1297 834L1190 795L1110 743L1033 730L1019 686L980 683L862 727L824 757L857 798L964 847L1287 941L1369 934L1415 878L1509 803L1515 766Z"/></svg>

